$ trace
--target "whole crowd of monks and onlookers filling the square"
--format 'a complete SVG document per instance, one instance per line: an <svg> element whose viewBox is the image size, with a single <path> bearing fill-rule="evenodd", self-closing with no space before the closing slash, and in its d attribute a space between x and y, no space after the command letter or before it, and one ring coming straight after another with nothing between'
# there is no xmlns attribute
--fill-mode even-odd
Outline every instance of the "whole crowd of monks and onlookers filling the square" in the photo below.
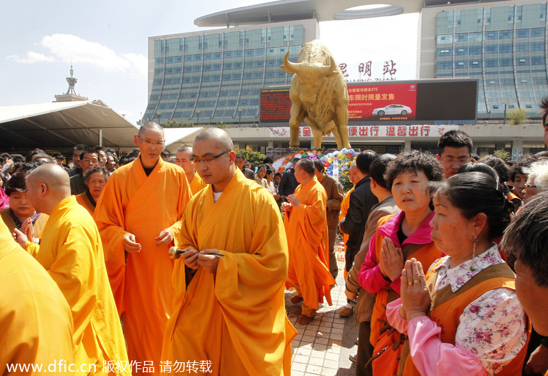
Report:
<svg viewBox="0 0 548 376"><path fill-rule="evenodd" d="M0 155L0 373L289 375L285 295L302 330L332 305L339 231L356 375L548 375L548 152L480 158L449 131L437 155L362 151L345 194L221 129L173 157L156 123L134 143L75 145L71 169Z"/></svg>

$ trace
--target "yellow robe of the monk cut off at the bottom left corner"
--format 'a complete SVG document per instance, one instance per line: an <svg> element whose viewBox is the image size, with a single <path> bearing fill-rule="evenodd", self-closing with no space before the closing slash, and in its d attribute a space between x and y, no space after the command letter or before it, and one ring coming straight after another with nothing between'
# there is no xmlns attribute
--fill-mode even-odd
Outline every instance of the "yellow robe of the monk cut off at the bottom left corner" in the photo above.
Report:
<svg viewBox="0 0 548 376"><path fill-rule="evenodd" d="M73 363L73 318L59 287L0 221L0 375L6 364ZM14 372L13 375L38 375ZM56 373L73 375L73 373Z"/></svg>

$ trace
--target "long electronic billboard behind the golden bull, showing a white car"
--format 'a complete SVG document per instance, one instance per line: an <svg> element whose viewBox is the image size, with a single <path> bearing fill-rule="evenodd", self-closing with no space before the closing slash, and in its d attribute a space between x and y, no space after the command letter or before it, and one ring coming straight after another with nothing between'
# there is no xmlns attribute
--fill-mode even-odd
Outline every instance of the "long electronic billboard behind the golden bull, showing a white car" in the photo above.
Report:
<svg viewBox="0 0 548 376"><path fill-rule="evenodd" d="M475 124L477 80L349 82L349 125ZM289 88L261 90L260 123L287 125Z"/></svg>

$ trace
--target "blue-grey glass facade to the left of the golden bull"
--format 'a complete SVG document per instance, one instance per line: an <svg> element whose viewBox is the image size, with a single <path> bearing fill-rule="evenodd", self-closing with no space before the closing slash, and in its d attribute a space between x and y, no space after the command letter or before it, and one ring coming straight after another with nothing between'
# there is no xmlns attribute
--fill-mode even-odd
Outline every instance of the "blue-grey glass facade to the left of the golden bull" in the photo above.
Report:
<svg viewBox="0 0 548 376"><path fill-rule="evenodd" d="M157 123L257 122L261 88L290 84L291 75L279 68L284 55L289 51L289 59L297 61L303 44L315 37L315 31L306 34L303 24L153 37L153 79L143 118Z"/></svg>

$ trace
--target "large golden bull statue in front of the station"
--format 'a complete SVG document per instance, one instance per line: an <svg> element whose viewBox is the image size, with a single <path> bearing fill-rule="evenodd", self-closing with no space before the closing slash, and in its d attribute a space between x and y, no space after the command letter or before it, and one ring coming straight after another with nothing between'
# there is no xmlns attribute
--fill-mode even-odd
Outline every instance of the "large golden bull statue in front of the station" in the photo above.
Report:
<svg viewBox="0 0 548 376"><path fill-rule="evenodd" d="M350 149L348 140L348 90L343 72L333 55L319 40L303 45L296 63L284 58L280 66L291 79L289 97L290 147L299 147L299 125L312 129L314 148L321 149L323 136L333 133L337 147Z"/></svg>

